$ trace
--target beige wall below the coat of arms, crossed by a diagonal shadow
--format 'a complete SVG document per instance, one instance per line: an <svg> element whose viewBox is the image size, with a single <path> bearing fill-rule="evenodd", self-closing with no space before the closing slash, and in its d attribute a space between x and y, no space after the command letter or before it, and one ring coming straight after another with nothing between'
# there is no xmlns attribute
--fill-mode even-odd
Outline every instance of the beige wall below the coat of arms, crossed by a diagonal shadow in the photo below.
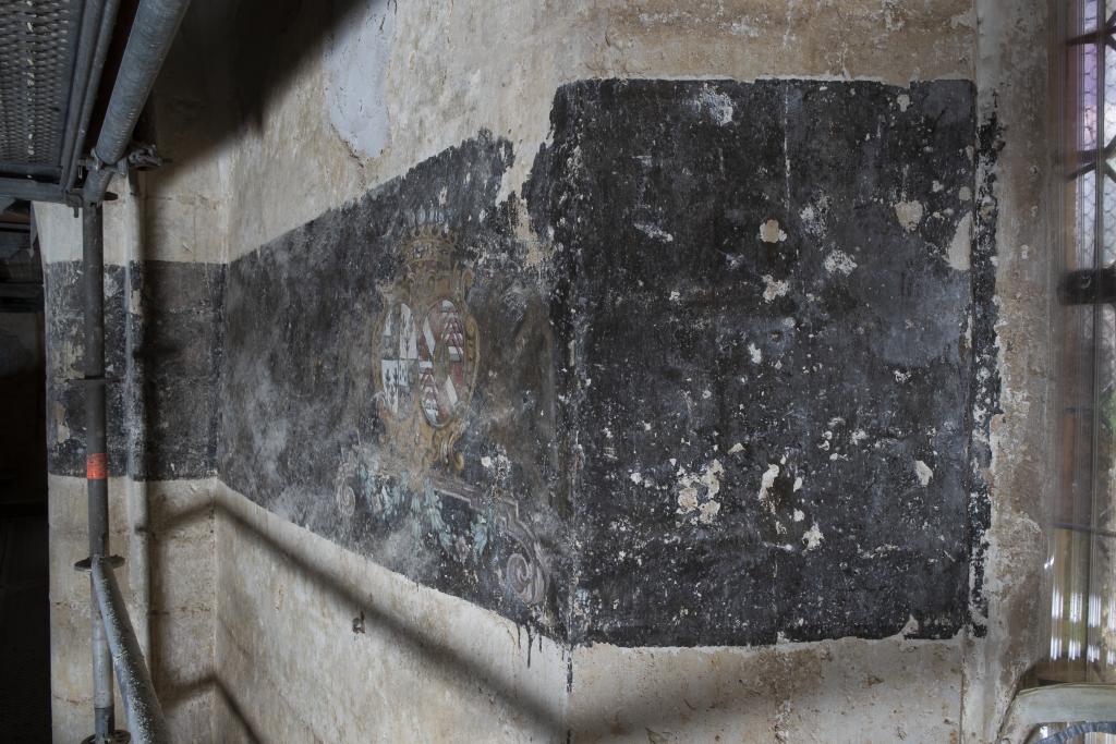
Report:
<svg viewBox="0 0 1116 744"><path fill-rule="evenodd" d="M222 489L215 742L566 741L569 651Z"/></svg>

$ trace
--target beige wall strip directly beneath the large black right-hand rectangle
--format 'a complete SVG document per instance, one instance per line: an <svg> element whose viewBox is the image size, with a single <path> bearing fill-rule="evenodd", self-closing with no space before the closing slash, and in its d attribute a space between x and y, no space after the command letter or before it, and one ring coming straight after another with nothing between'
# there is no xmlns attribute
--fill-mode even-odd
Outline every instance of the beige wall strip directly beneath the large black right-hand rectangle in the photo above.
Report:
<svg viewBox="0 0 1116 744"><path fill-rule="evenodd" d="M574 651L578 742L949 742L961 647L902 638Z"/></svg>

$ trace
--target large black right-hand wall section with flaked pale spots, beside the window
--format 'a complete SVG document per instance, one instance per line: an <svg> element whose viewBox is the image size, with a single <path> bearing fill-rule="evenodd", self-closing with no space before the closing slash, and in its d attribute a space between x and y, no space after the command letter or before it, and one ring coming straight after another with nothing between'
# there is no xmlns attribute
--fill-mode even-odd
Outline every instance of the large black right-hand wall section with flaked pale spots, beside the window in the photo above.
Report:
<svg viewBox="0 0 1116 744"><path fill-rule="evenodd" d="M571 634L968 618L973 88L564 88L532 216L577 453Z"/></svg>

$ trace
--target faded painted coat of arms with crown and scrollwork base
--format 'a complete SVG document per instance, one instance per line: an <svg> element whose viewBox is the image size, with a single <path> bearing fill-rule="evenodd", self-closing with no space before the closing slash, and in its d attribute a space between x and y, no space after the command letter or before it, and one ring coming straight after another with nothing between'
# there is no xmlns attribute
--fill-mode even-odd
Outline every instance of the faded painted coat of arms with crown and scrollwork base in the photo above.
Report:
<svg viewBox="0 0 1116 744"><path fill-rule="evenodd" d="M519 601L537 605L546 571L518 499L461 477L464 462L454 445L469 423L480 331L468 305L473 277L453 262L454 240L436 226L417 230L401 247L398 280L379 288L371 381L384 436L375 450L344 453L337 504L345 518L354 515L358 497L381 518L408 513L416 529L435 534L458 561L474 560L490 543L491 530L500 530L518 547L501 571L503 582ZM464 534L445 523L445 500L473 515Z"/></svg>

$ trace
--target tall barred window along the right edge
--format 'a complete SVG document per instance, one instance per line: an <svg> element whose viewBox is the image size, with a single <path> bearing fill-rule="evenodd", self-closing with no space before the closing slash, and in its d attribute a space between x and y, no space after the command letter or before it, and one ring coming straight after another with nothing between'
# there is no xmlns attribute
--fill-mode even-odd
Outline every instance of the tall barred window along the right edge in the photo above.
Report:
<svg viewBox="0 0 1116 744"><path fill-rule="evenodd" d="M1062 11L1060 270L1096 272L1116 262L1116 0L1071 0ZM1116 683L1116 311L1065 305L1055 331L1050 646L1038 674L1042 682Z"/></svg>

